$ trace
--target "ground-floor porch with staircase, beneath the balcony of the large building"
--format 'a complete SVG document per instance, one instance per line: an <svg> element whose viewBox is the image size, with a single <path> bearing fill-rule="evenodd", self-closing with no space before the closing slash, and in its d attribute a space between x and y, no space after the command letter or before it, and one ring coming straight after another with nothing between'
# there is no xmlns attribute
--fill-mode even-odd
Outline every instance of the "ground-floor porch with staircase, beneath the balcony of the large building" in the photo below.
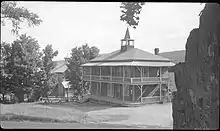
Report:
<svg viewBox="0 0 220 131"><path fill-rule="evenodd" d="M165 86L162 85L161 87ZM93 99L98 101L111 101L122 105L147 104L159 102L163 99L164 95L158 87L159 85L143 85L141 87L141 85L91 82L90 93Z"/></svg>

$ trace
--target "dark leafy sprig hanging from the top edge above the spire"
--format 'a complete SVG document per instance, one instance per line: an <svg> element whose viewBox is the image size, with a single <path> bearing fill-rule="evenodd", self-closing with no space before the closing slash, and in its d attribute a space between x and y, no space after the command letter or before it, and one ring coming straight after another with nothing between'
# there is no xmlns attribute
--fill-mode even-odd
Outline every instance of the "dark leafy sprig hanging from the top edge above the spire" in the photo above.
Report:
<svg viewBox="0 0 220 131"><path fill-rule="evenodd" d="M122 9L121 21L125 21L129 26L136 28L139 23L139 14L145 2L122 2L120 8Z"/></svg>

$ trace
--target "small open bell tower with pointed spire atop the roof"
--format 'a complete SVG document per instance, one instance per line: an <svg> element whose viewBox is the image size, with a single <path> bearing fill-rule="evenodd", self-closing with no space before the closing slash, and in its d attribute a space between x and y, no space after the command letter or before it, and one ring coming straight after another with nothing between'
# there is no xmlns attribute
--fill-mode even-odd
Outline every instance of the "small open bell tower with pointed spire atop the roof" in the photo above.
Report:
<svg viewBox="0 0 220 131"><path fill-rule="evenodd" d="M124 39L121 39L121 52L134 48L134 40L130 38L129 30L127 28Z"/></svg>

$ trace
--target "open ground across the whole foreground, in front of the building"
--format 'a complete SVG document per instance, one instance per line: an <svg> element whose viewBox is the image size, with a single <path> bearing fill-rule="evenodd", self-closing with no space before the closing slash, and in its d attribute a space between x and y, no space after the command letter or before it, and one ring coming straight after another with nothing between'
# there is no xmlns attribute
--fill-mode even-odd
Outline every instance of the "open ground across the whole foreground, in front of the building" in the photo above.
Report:
<svg viewBox="0 0 220 131"><path fill-rule="evenodd" d="M2 114L16 114L31 117L50 118L66 123L39 123L4 121L7 125L29 127L56 127L59 128L171 128L172 105L151 104L142 107L110 107L98 104L50 104L39 105L34 103L1 104ZM17 123L17 124L14 124ZM28 123L28 124L27 124ZM41 126L42 124L46 124ZM26 125L26 126L25 126ZM40 125L40 126L39 126ZM54 126L52 126L54 125ZM65 125L65 126L64 126ZM12 128L12 127L11 127ZM16 127L15 127L16 128ZM19 127L17 127L19 128ZM32 128L32 127L31 127Z"/></svg>

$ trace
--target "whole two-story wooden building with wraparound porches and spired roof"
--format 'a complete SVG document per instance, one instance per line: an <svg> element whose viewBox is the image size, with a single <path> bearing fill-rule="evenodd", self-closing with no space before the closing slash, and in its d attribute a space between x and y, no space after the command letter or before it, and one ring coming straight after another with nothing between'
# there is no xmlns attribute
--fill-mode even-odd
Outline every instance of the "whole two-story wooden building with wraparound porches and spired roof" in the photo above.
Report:
<svg viewBox="0 0 220 131"><path fill-rule="evenodd" d="M93 99L115 103L150 103L162 100L162 77L174 63L134 47L127 29L121 48L83 64L83 80L90 83Z"/></svg>

